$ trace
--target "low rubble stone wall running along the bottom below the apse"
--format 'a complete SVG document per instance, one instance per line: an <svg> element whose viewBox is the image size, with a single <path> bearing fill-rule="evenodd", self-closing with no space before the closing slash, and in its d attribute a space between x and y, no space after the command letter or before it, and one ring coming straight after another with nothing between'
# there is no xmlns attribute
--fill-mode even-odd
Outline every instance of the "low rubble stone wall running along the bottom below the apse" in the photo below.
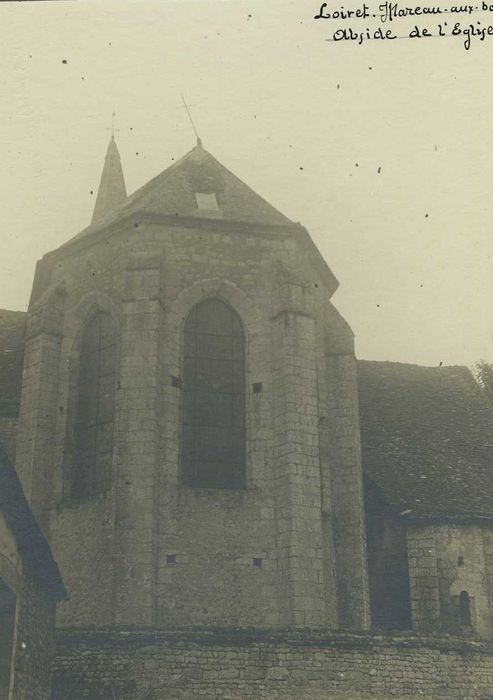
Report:
<svg viewBox="0 0 493 700"><path fill-rule="evenodd" d="M320 630L57 634L54 700L493 700L493 645Z"/></svg>

